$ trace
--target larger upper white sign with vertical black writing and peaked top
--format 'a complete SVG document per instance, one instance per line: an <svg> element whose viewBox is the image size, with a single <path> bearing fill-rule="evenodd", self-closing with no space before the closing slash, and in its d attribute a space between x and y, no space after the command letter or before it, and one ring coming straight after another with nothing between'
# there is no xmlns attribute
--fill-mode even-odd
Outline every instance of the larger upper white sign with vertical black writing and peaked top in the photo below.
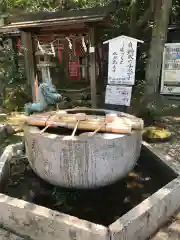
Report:
<svg viewBox="0 0 180 240"><path fill-rule="evenodd" d="M109 41L108 84L134 85L137 42L125 36Z"/></svg>

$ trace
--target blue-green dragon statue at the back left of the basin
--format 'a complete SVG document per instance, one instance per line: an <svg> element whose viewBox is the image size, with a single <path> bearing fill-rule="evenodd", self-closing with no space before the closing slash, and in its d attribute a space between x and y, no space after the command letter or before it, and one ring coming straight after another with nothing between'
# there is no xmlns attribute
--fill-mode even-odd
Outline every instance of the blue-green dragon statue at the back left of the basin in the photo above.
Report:
<svg viewBox="0 0 180 240"><path fill-rule="evenodd" d="M25 104L25 113L30 115L34 112L43 112L48 106L62 101L62 96L57 93L56 88L50 83L42 83L38 88L37 103Z"/></svg>

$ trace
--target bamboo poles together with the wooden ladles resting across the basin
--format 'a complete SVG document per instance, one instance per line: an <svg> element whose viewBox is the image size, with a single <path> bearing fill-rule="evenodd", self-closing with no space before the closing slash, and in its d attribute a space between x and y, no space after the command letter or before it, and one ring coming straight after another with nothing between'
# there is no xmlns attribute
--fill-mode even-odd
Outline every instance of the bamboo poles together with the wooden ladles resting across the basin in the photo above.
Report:
<svg viewBox="0 0 180 240"><path fill-rule="evenodd" d="M72 136L75 136L77 129L94 132L94 135L100 130L101 132L107 133L129 134L132 130L142 130L143 128L142 124L140 124L141 119L137 119L136 124L136 122L131 119L121 118L115 114L107 114L105 117L99 117L96 116L93 118L91 115L85 115L84 113L69 116L65 111L58 111L49 116L44 116L43 114L32 115L25 119L25 123L31 126L44 127L43 130L41 130L41 134L50 126L53 128L63 127L72 129ZM92 133L90 135L92 135Z"/></svg>

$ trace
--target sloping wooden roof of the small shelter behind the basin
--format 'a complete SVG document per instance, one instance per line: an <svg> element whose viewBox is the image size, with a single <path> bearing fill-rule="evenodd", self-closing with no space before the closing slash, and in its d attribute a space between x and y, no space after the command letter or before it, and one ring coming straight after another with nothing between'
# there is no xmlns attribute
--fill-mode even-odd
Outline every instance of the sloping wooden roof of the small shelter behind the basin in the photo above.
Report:
<svg viewBox="0 0 180 240"><path fill-rule="evenodd" d="M67 26L81 23L99 23L105 21L115 10L115 5L80 10L26 13L8 18L7 25L0 28L37 28L54 25Z"/></svg>

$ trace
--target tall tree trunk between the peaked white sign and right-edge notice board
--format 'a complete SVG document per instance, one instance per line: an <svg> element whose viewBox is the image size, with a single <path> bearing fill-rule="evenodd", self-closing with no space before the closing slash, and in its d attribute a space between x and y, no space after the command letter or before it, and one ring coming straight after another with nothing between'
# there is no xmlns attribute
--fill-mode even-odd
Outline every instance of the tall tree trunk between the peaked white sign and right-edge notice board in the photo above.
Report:
<svg viewBox="0 0 180 240"><path fill-rule="evenodd" d="M152 105L157 99L161 75L162 56L167 38L172 0L155 0L154 26L145 74L144 103Z"/></svg>

